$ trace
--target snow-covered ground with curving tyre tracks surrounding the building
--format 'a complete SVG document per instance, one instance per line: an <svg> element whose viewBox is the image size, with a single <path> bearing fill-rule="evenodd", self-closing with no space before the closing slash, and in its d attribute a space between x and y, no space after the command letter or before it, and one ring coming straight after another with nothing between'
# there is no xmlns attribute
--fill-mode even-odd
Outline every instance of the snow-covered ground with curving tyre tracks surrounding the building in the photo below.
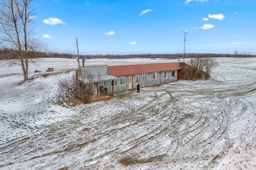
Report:
<svg viewBox="0 0 256 170"><path fill-rule="evenodd" d="M256 58L217 60L209 81L178 81L75 107L54 104L65 73L18 85L18 67L0 67L0 169L256 169ZM31 73L76 66L47 58Z"/></svg>

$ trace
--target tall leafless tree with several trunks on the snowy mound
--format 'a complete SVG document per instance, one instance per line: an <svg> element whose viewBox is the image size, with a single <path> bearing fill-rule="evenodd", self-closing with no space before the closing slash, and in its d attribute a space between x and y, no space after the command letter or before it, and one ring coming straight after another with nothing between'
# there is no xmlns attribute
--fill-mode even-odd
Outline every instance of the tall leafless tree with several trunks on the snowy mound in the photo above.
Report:
<svg viewBox="0 0 256 170"><path fill-rule="evenodd" d="M28 80L28 64L34 62L30 58L41 46L37 37L33 35L34 10L31 8L33 0L1 0L0 45L9 49L9 55L2 56L9 65L21 65L24 81ZM11 56L18 56L18 60L10 60Z"/></svg>

